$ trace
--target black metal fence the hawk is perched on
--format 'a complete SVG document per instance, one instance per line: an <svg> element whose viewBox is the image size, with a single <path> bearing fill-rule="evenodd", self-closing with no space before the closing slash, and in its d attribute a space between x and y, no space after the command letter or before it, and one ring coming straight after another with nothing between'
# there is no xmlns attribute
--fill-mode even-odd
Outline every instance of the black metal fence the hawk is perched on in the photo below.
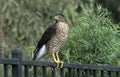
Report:
<svg viewBox="0 0 120 77"><path fill-rule="evenodd" d="M12 52L12 59L1 58L0 64L4 66L4 77L10 77L8 66L12 68L12 77L120 77L120 67L64 63L63 68L56 68L54 62L22 60L20 51ZM28 71L30 65L33 66L32 73Z"/></svg>

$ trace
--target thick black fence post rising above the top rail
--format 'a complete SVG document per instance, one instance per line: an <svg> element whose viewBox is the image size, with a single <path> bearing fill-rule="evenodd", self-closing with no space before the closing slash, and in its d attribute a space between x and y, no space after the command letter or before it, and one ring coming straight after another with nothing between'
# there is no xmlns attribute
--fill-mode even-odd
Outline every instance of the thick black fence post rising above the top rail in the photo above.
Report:
<svg viewBox="0 0 120 77"><path fill-rule="evenodd" d="M12 65L12 77L22 77L22 53L19 50L12 51L12 58L18 59L18 63Z"/></svg>

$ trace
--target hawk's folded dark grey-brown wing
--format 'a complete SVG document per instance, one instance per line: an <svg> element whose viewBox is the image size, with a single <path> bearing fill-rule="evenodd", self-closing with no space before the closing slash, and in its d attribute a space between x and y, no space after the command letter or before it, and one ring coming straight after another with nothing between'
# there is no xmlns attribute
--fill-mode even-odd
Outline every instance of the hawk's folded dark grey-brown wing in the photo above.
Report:
<svg viewBox="0 0 120 77"><path fill-rule="evenodd" d="M50 26L50 27L48 27L45 30L45 32L43 33L40 41L38 42L38 44L36 46L36 49L34 50L34 57L33 57L33 59L36 58L36 55L39 52L40 48L43 45L47 44L47 42L55 35L55 33L56 33L56 26L55 26L55 24Z"/></svg>

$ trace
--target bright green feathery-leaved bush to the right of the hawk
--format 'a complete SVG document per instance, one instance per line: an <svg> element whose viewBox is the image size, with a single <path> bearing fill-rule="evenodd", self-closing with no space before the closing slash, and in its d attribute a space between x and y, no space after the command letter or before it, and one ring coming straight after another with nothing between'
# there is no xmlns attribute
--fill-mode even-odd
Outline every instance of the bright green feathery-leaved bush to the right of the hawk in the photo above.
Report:
<svg viewBox="0 0 120 77"><path fill-rule="evenodd" d="M119 65L120 39L109 13L98 6L96 14L84 8L77 26L71 27L61 54L66 61L81 64Z"/></svg>

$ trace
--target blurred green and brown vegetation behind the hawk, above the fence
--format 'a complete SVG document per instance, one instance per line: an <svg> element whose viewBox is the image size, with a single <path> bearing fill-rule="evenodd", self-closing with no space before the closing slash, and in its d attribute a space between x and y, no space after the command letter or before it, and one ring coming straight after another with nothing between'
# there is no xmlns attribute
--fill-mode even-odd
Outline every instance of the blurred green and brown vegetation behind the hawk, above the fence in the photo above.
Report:
<svg viewBox="0 0 120 77"><path fill-rule="evenodd" d="M17 48L31 59L56 13L63 13L70 25L61 59L120 65L120 0L0 0L0 57L10 57Z"/></svg>

